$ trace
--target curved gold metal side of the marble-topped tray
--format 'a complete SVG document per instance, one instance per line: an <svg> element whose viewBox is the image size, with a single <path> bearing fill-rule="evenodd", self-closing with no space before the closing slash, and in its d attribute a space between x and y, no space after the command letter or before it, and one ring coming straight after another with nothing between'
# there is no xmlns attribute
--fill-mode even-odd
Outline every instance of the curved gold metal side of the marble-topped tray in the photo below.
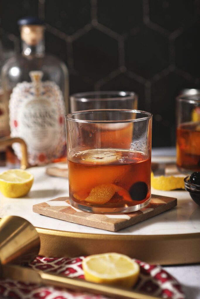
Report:
<svg viewBox="0 0 200 299"><path fill-rule="evenodd" d="M200 263L200 233L123 236L36 229L41 240L40 254L47 257L118 252L154 264Z"/></svg>

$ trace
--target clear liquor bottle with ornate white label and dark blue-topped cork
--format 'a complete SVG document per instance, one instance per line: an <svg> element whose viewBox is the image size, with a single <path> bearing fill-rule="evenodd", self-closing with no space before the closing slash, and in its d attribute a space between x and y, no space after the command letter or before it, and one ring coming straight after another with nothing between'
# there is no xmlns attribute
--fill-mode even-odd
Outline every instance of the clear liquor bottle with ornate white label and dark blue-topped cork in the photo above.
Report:
<svg viewBox="0 0 200 299"><path fill-rule="evenodd" d="M26 17L18 25L22 52L5 63L1 76L9 103L10 135L24 139L31 165L59 161L66 152L67 67L45 54L45 28L40 19ZM19 144L13 149L20 159Z"/></svg>

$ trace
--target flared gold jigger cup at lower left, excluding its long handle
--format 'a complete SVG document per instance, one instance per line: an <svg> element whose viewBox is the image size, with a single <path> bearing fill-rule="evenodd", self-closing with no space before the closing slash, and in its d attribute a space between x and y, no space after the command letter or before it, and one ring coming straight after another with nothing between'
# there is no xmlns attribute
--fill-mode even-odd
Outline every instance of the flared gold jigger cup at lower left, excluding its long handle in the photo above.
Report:
<svg viewBox="0 0 200 299"><path fill-rule="evenodd" d="M0 221L0 262L29 263L38 255L40 237L34 226L18 216L7 216Z"/></svg>

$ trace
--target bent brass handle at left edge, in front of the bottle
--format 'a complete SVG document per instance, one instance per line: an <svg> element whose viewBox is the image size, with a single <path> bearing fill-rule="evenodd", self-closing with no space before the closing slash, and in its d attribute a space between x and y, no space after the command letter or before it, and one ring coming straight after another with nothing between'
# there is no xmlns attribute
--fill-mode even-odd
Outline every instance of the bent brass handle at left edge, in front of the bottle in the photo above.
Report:
<svg viewBox="0 0 200 299"><path fill-rule="evenodd" d="M25 141L19 137L7 136L7 137L0 138L0 146L9 146L15 142L20 143L21 145L21 152L22 152L21 169L26 169L27 167L29 167L29 164L28 164L27 145Z"/></svg>

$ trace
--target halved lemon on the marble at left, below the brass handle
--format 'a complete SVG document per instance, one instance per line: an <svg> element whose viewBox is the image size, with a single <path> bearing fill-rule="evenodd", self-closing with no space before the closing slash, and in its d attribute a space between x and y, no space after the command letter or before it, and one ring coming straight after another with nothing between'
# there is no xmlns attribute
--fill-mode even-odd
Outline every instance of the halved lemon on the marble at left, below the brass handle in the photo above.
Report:
<svg viewBox="0 0 200 299"><path fill-rule="evenodd" d="M0 190L6 197L25 196L33 184L33 175L25 170L10 169L0 174Z"/></svg>

